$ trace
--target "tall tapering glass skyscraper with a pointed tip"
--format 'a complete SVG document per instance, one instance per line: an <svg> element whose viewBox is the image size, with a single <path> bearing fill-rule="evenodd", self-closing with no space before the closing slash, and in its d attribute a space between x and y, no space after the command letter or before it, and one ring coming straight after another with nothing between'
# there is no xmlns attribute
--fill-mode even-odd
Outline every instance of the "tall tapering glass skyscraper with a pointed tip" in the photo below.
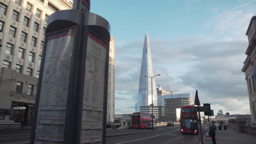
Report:
<svg viewBox="0 0 256 144"><path fill-rule="evenodd" d="M139 89L138 101L135 105L135 111L139 112L140 106L148 106L152 104L152 86L153 86L153 105L158 105L158 95L156 93L155 78L151 83L151 78L143 76L154 76L153 63L150 50L150 42L148 33L145 35L142 62L141 62L141 75L139 76Z"/></svg>

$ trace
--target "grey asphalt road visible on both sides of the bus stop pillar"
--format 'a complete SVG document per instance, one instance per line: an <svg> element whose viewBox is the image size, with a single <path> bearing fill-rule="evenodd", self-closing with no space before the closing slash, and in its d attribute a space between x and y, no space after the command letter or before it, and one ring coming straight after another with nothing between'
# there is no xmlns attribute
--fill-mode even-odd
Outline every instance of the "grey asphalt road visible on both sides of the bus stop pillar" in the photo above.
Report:
<svg viewBox="0 0 256 144"><path fill-rule="evenodd" d="M203 129L202 125L202 129ZM121 143L199 143L199 135L182 135L179 132L179 125L174 127L158 126L158 129L127 129L127 130L110 130L107 131L108 144ZM3 131L2 131L3 132ZM204 135L203 131L203 135ZM30 141L30 130L6 130L0 133L0 143L28 143ZM22 143L23 144L23 143Z"/></svg>

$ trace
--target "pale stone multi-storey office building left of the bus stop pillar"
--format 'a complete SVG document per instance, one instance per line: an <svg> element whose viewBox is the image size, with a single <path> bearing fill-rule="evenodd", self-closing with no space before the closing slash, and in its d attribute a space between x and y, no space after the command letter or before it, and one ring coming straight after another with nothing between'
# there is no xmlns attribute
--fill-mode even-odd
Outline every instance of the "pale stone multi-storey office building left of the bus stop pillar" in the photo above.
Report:
<svg viewBox="0 0 256 144"><path fill-rule="evenodd" d="M48 18L72 2L0 2L0 122L32 122Z"/></svg>

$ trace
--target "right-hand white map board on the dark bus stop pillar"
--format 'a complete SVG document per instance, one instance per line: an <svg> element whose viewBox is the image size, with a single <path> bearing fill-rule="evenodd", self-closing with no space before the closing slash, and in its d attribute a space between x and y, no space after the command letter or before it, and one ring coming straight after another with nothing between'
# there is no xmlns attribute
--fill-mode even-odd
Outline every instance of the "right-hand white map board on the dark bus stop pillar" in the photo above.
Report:
<svg viewBox="0 0 256 144"><path fill-rule="evenodd" d="M107 44L89 32L80 143L102 143L106 56Z"/></svg>

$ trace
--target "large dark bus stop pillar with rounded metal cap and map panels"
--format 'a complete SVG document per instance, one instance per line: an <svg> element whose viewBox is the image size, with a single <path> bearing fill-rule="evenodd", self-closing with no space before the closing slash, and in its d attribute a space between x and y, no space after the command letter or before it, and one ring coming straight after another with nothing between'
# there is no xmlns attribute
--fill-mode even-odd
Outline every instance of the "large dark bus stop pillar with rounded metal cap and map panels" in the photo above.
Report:
<svg viewBox="0 0 256 144"><path fill-rule="evenodd" d="M110 26L73 7L49 17L31 143L106 143Z"/></svg>

